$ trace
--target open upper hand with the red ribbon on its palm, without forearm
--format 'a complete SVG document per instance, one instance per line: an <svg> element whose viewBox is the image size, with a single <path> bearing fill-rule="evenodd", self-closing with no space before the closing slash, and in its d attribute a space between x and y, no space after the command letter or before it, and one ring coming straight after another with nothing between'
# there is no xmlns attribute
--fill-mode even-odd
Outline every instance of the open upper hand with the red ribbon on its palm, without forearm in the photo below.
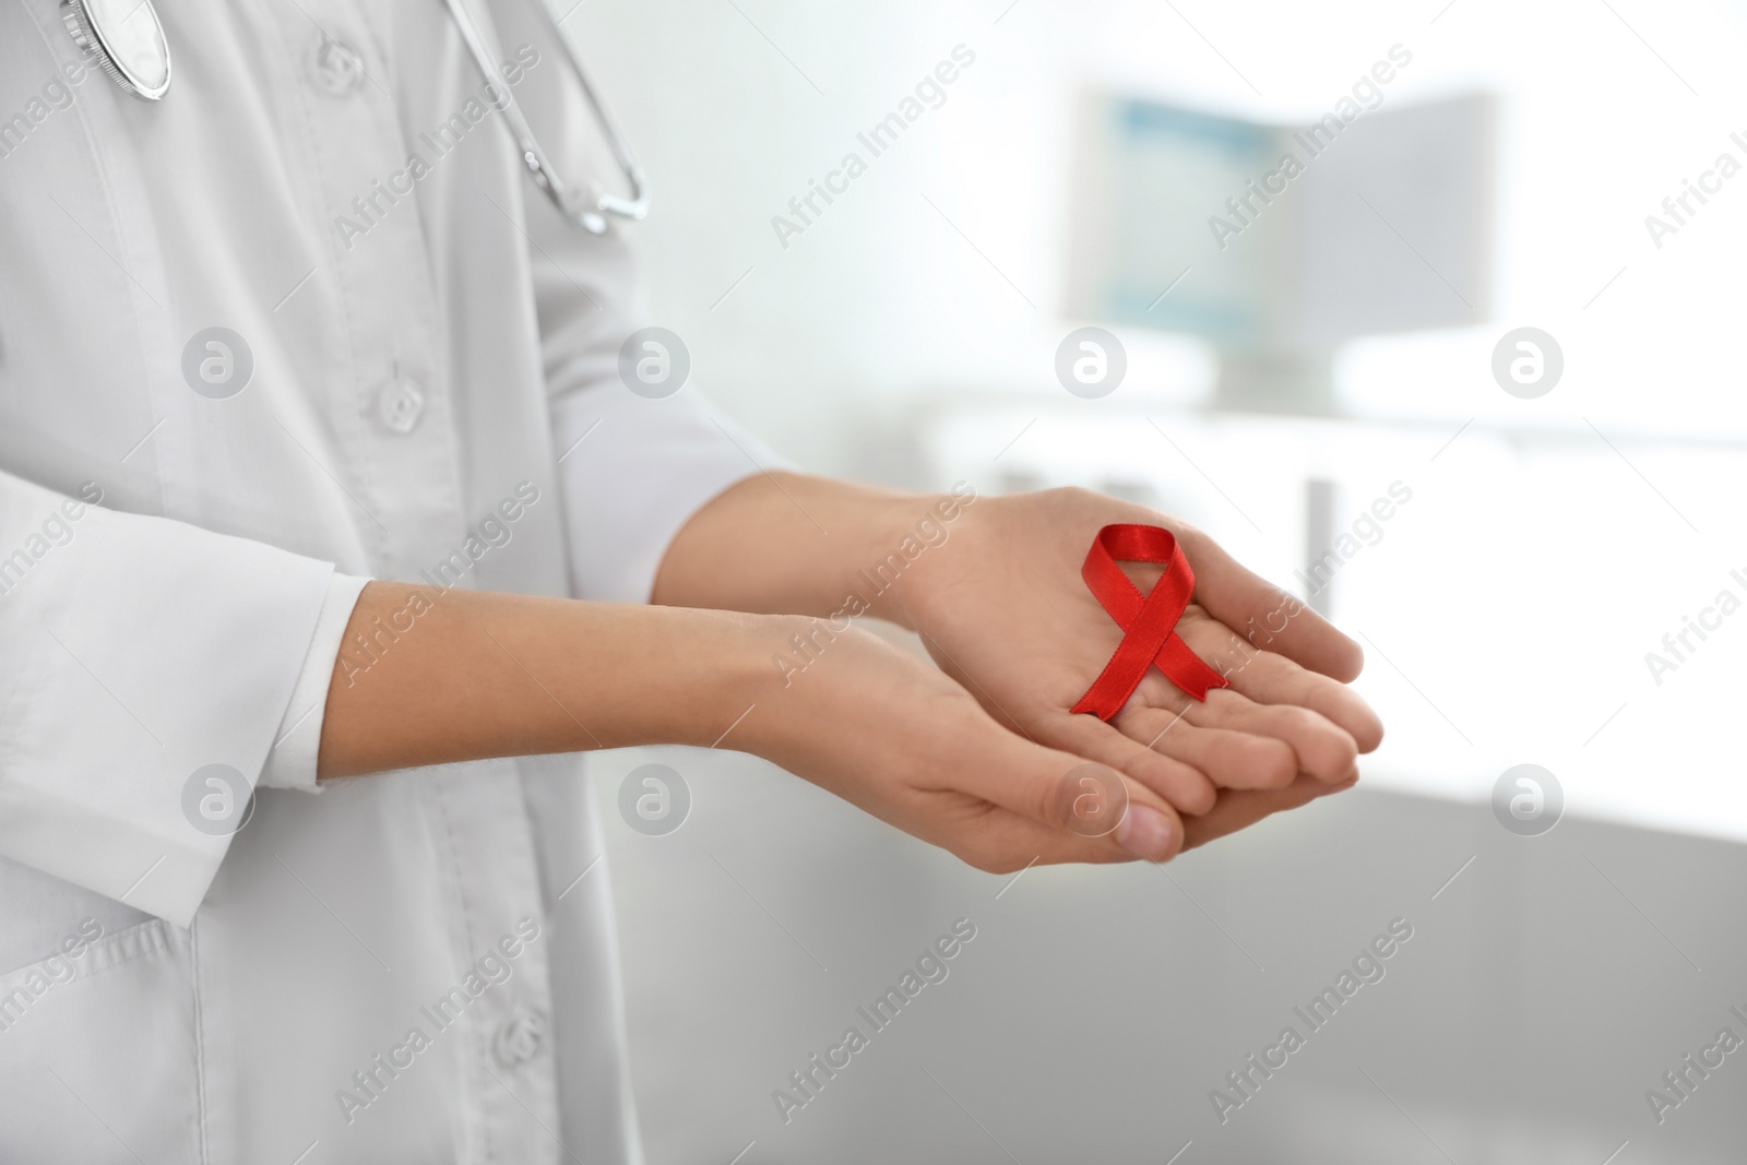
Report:
<svg viewBox="0 0 1747 1165"><path fill-rule="evenodd" d="M1176 534L1195 571L1177 634L1232 686L1197 702L1148 667L1109 723L1067 711L1122 641L1080 578L1094 536L1113 522ZM1160 575L1158 566L1125 569L1143 594ZM978 498L901 592L905 622L992 716L1122 770L1184 814L1212 810L1218 789L1281 796L1221 793L1216 821L1302 803L1314 789L1300 774L1324 791L1343 788L1357 776L1357 755L1382 741L1377 714L1343 683L1363 667L1359 645L1200 531L1139 505L1083 489Z"/></svg>

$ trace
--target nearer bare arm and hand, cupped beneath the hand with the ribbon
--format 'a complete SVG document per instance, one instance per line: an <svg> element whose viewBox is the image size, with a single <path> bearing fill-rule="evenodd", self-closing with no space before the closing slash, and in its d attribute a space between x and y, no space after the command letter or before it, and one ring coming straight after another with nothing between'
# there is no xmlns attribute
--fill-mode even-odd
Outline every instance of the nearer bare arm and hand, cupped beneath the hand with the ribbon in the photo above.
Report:
<svg viewBox="0 0 1747 1165"><path fill-rule="evenodd" d="M416 594L423 613L367 672L335 671L323 777L720 739L984 870L1162 861L1183 842L1139 786L1129 796L1151 814L1130 810L1097 838L1062 828L1057 791L1083 758L1001 728L959 685L861 631L784 676L772 657L811 620L370 583L348 638Z"/></svg>

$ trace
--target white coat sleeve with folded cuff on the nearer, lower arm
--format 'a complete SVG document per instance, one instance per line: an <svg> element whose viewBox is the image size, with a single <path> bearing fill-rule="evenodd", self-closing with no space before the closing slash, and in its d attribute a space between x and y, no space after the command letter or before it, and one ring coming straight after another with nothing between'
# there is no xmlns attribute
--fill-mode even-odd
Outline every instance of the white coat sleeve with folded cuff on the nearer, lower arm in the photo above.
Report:
<svg viewBox="0 0 1747 1165"><path fill-rule="evenodd" d="M196 774L246 805L332 575L0 473L0 854L187 926L231 844Z"/></svg>

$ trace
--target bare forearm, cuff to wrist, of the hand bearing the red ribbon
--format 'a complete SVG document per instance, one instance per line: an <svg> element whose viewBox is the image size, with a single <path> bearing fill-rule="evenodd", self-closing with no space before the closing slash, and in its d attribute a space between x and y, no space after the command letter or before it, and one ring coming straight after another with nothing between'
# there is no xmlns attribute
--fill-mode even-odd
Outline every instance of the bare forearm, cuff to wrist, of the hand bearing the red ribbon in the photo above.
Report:
<svg viewBox="0 0 1747 1165"><path fill-rule="evenodd" d="M910 494L800 473L749 477L699 510L662 559L652 601L912 625L907 599L975 491ZM912 585L905 585L907 580Z"/></svg>

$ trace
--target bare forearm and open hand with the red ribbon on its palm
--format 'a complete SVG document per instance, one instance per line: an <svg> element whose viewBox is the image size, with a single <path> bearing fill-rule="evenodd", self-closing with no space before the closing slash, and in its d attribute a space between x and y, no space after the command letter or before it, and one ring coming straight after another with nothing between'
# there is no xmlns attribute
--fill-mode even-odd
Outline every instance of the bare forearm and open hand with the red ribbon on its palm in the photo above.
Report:
<svg viewBox="0 0 1747 1165"><path fill-rule="evenodd" d="M1176 533L1195 571L1177 624L1230 686L1198 702L1157 669L1109 723L1071 714L1122 631L1080 578L1106 524ZM1158 568L1137 566L1148 589ZM1356 643L1244 569L1200 531L1083 489L978 498L894 494L774 473L728 489L674 538L657 603L868 613L919 632L954 679L1029 739L1120 769L1179 812L1219 789L1279 789L1298 774L1356 776L1382 725L1343 679Z"/></svg>

